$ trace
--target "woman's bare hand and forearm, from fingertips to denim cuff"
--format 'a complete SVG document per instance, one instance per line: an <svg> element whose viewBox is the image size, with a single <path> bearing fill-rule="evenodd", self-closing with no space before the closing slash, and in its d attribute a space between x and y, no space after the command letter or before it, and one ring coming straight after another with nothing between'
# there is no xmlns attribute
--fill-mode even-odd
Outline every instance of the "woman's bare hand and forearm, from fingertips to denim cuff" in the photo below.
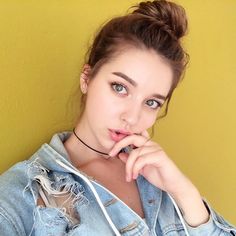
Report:
<svg viewBox="0 0 236 236"><path fill-rule="evenodd" d="M119 153L128 145L136 148L129 154ZM150 140L147 131L141 135L125 137L114 145L109 155L117 155L126 163L128 182L141 174L151 184L168 192L177 202L189 225L196 227L208 221L209 213L197 188L166 155L160 145Z"/></svg>

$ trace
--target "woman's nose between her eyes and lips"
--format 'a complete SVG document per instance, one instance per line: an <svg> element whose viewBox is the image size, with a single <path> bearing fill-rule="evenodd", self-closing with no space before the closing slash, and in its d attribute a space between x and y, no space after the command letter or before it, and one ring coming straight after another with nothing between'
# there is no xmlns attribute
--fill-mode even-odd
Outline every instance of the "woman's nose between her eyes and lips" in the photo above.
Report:
<svg viewBox="0 0 236 236"><path fill-rule="evenodd" d="M134 101L125 107L124 112L121 114L121 120L125 122L126 125L133 126L140 120L141 111L141 106L137 101Z"/></svg>

